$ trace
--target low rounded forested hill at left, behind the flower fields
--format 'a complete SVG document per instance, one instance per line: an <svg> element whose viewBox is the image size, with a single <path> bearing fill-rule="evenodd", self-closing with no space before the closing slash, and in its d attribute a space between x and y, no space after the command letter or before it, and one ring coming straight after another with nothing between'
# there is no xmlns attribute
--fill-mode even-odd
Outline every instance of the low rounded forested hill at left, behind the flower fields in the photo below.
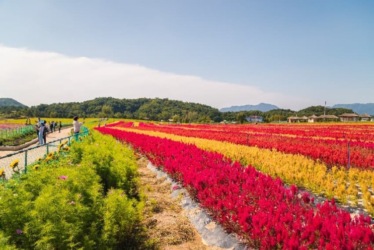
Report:
<svg viewBox="0 0 374 250"><path fill-rule="evenodd" d="M17 111L17 112L14 112ZM30 108L0 107L7 117L116 117L181 122L220 121L221 113L207 105L160 98L116 99L100 97L84 102L40 104Z"/></svg>

